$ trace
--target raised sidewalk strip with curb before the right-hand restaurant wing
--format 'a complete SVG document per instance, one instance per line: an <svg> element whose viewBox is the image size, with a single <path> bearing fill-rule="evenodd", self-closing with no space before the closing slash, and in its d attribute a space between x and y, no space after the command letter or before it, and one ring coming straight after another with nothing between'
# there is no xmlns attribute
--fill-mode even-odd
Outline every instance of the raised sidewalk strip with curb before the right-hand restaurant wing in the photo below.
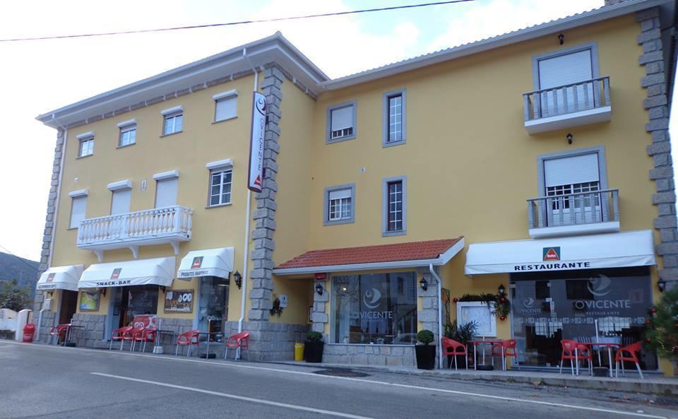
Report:
<svg viewBox="0 0 678 419"><path fill-rule="evenodd" d="M345 364L309 364L297 361L279 361L286 365L307 365L324 368L342 368L348 370L364 370L391 372L394 374L414 374L429 377L444 377L449 379L468 379L491 382L532 384L533 386L561 386L576 387L581 389L626 391L632 393L663 394L678 396L678 378L664 377L661 374L644 373L645 379L640 379L637 374L626 372L626 377L591 377L588 372L579 376L573 376L569 370L563 369L563 373L547 372L539 370L509 370L509 371L474 371L472 369L451 370L417 370L406 367L386 367L383 365L345 365Z"/></svg>

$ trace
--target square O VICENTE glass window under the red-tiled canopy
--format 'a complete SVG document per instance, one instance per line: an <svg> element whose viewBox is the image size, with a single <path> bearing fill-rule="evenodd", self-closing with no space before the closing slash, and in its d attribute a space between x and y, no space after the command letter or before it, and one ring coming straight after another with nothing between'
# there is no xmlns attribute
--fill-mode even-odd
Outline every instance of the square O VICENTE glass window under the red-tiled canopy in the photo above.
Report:
<svg viewBox="0 0 678 419"><path fill-rule="evenodd" d="M332 287L334 343L416 342L415 272L333 276Z"/></svg>

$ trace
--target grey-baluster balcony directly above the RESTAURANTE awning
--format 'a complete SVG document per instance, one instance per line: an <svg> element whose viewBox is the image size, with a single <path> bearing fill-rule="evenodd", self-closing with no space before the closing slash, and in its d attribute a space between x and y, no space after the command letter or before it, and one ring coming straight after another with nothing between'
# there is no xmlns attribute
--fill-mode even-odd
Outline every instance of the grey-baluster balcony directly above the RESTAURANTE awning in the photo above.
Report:
<svg viewBox="0 0 678 419"><path fill-rule="evenodd" d="M619 189L528 199L530 237L619 231Z"/></svg>

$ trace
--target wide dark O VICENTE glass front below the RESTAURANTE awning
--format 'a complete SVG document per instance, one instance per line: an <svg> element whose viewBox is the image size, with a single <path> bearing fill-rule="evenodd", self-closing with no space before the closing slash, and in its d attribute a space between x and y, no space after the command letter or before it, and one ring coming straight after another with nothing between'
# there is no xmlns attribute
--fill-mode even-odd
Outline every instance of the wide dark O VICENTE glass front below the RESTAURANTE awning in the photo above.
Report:
<svg viewBox="0 0 678 419"><path fill-rule="evenodd" d="M620 346L643 340L651 283L645 266L511 275L511 329L521 365L560 365L562 339ZM657 368L654 354L641 355L643 369ZM601 362L607 365L607 353Z"/></svg>

